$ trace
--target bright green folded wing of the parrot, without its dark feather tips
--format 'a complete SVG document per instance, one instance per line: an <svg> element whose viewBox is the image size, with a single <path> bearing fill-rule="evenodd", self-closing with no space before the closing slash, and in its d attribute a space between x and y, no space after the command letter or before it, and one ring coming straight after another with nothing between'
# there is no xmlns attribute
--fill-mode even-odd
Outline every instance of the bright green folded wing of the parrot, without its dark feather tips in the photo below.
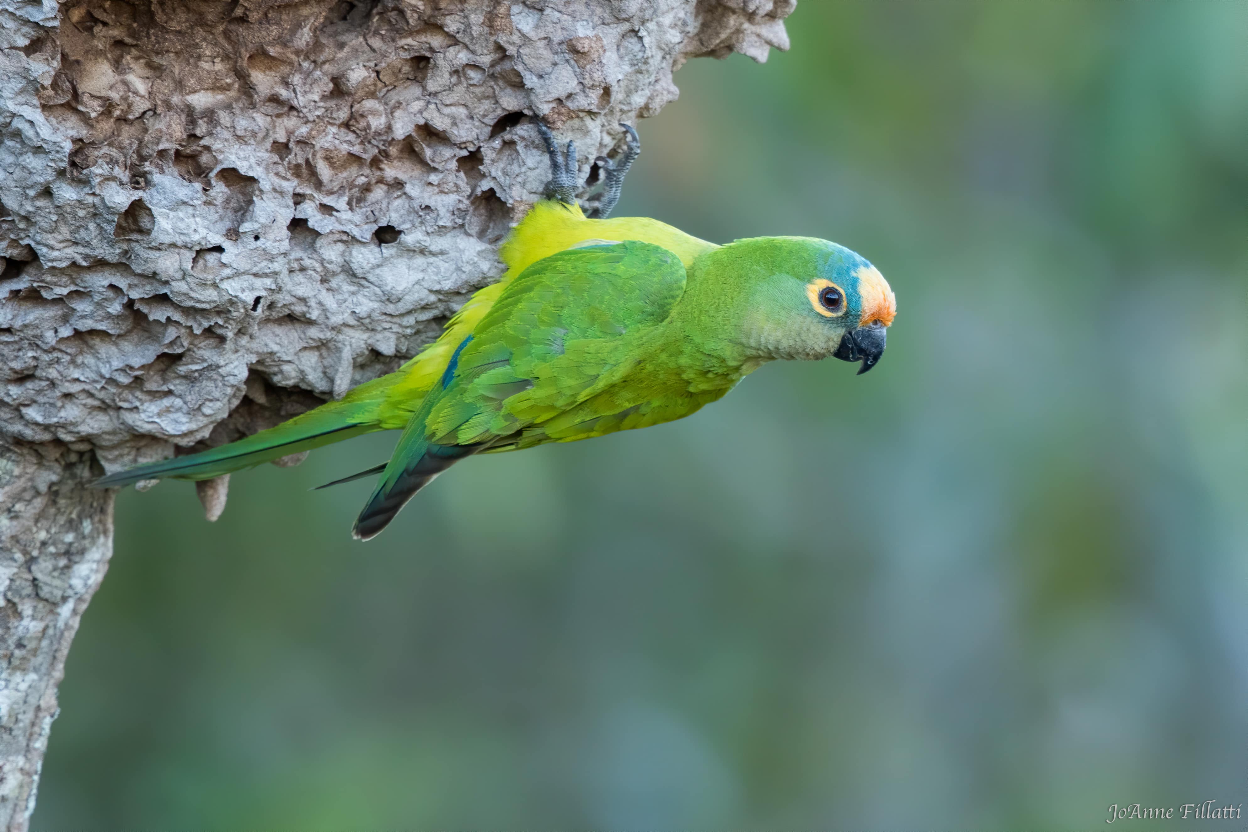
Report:
<svg viewBox="0 0 1248 832"><path fill-rule="evenodd" d="M477 326L424 435L500 449L609 433L603 420L631 407L623 398L648 398L631 370L653 357L659 324L684 289L680 258L650 243L575 248L538 261ZM628 395L613 395L630 375ZM636 412L619 422L628 415ZM564 435L577 425L577 435Z"/></svg>

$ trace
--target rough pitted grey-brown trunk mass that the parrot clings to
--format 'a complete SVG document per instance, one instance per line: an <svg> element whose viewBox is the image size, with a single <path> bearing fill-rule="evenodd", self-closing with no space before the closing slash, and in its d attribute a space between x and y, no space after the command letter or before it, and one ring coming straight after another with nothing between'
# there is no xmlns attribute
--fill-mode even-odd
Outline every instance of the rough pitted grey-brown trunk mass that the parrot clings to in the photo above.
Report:
<svg viewBox="0 0 1248 832"><path fill-rule="evenodd" d="M584 176L688 57L786 47L794 2L0 0L6 828L107 561L92 455L217 444L394 369L500 273L545 178L523 115Z"/></svg>

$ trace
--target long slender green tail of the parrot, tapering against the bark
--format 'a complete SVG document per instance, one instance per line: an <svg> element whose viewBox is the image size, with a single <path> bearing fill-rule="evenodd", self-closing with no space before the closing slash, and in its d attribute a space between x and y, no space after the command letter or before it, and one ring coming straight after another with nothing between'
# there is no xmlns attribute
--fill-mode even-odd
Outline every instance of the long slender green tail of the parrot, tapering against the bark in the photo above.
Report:
<svg viewBox="0 0 1248 832"><path fill-rule="evenodd" d="M139 465L97 479L96 488L129 485L144 479L212 479L243 468L272 462L287 454L311 450L334 442L381 430L377 410L384 397L382 377L363 384L341 402L322 404L276 428L261 430L246 439L231 442L197 454L173 457L158 463Z"/></svg>

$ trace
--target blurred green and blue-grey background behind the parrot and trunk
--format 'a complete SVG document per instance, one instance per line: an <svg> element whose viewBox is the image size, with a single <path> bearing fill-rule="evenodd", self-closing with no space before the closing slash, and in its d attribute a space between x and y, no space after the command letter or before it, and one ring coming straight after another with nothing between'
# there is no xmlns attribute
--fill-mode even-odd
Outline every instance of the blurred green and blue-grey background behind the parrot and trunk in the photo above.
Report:
<svg viewBox="0 0 1248 832"><path fill-rule="evenodd" d="M122 494L36 830L1248 802L1248 2L804 0L789 31L680 70L619 213L864 253L881 365L467 460L368 545L368 483L306 489L391 435L237 475L215 525L187 484Z"/></svg>

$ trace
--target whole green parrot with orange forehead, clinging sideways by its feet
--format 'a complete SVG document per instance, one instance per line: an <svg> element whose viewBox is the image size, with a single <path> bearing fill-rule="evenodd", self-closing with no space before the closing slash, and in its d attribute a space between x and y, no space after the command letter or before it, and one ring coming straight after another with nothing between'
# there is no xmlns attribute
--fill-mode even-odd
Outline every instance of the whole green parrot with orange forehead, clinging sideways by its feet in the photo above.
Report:
<svg viewBox="0 0 1248 832"><path fill-rule="evenodd" d="M512 231L503 278L399 370L220 448L110 474L97 485L202 480L372 430L401 429L356 520L368 540L434 476L479 453L574 442L680 419L776 359L840 358L865 373L896 314L889 283L812 237L716 246L649 218L587 218L575 148L550 155L548 198ZM599 157L605 217L636 157ZM324 488L324 486L322 486Z"/></svg>

